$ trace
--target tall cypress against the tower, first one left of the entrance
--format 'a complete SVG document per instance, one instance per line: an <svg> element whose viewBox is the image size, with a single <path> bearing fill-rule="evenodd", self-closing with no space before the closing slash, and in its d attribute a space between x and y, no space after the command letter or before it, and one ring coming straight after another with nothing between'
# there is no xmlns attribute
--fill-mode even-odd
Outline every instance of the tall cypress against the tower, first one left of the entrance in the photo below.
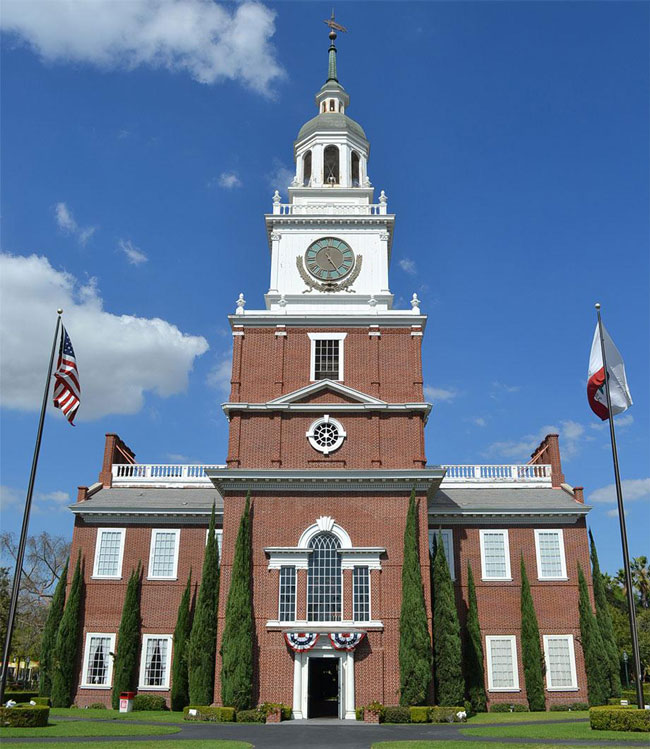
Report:
<svg viewBox="0 0 650 749"><path fill-rule="evenodd" d="M253 705L253 595L250 492L239 523L221 642L221 700L245 710Z"/></svg>

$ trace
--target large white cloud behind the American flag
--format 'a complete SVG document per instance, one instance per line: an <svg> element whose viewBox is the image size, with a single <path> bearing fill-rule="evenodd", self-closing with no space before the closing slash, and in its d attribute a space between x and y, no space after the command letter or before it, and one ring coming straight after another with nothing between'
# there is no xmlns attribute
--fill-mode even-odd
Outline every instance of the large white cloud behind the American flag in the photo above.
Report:
<svg viewBox="0 0 650 749"><path fill-rule="evenodd" d="M81 286L37 255L0 254L0 295L0 349L12 354L0 361L8 408L40 406L57 307L79 365L82 420L137 413L148 391L163 398L183 392L194 359L208 350L205 338L165 320L106 312L94 279Z"/></svg>

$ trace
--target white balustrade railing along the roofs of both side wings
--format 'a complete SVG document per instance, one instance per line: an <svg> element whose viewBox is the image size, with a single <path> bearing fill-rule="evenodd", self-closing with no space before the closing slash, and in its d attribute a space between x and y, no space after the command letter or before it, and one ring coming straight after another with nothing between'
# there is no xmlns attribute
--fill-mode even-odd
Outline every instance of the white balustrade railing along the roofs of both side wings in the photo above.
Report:
<svg viewBox="0 0 650 749"><path fill-rule="evenodd" d="M113 466L113 486L194 486L211 487L206 476L208 468L226 468L225 465L179 465L172 463L135 463ZM481 485L502 486L551 485L550 465L446 465L443 486Z"/></svg>

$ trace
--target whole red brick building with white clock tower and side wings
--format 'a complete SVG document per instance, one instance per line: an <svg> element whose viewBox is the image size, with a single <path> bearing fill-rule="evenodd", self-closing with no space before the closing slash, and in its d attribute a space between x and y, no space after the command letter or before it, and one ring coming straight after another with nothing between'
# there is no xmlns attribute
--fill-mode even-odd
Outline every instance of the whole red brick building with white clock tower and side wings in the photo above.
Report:
<svg viewBox="0 0 650 749"><path fill-rule="evenodd" d="M318 114L294 144L289 202L276 192L266 216L265 309L247 309L240 295L229 318L225 464L138 464L108 434L98 483L79 489L72 508L73 558L80 549L86 560L79 705L109 700L109 653L119 648L126 582L138 562L139 691L169 696L177 609L190 568L193 579L201 570L213 503L222 539L219 644L247 491L258 701L291 704L296 718L331 710L347 719L372 700L397 703L403 535L413 489L429 612L433 535L443 537L461 624L472 565L489 700L526 699L523 554L547 703L586 701L577 603L577 566L589 569L582 489L564 482L557 435L522 465L427 463L426 315L415 295L411 309L393 308L395 217L383 191L373 202L369 143L347 116L348 104L332 38ZM216 703L220 665L217 656Z"/></svg>

